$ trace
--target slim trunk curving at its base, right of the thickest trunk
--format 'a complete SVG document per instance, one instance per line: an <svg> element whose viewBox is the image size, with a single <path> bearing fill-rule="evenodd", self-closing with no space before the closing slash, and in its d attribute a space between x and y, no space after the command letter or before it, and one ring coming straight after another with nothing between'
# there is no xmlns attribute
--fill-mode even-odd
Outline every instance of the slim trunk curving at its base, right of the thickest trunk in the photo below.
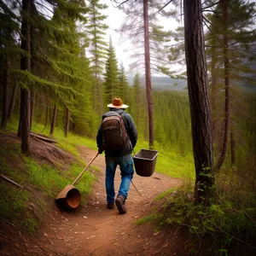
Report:
<svg viewBox="0 0 256 256"><path fill-rule="evenodd" d="M223 55L224 55L224 84L225 84L225 107L224 107L224 138L222 149L219 155L218 162L214 167L214 172L218 172L224 163L225 156L228 150L230 137L230 60L229 60L229 38L228 38L228 1L220 0L219 4L223 14Z"/></svg>

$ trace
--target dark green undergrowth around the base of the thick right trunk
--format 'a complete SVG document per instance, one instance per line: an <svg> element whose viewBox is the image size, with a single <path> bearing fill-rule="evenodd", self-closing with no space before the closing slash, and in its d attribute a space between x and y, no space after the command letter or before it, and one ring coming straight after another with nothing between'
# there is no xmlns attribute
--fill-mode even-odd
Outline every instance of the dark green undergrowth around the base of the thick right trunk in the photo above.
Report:
<svg viewBox="0 0 256 256"><path fill-rule="evenodd" d="M223 181L223 177L218 179ZM201 251L207 252L204 255L233 255L231 247L243 247L247 252L256 253L255 194L248 192L245 198L237 187L236 192L232 192L231 189L224 191L218 185L216 197L209 207L205 207L195 205L193 189L192 185L186 184L159 195L151 213L137 220L137 224L154 223L155 230L166 225L183 226ZM198 253L195 248L194 253ZM255 255L253 253L247 255Z"/></svg>

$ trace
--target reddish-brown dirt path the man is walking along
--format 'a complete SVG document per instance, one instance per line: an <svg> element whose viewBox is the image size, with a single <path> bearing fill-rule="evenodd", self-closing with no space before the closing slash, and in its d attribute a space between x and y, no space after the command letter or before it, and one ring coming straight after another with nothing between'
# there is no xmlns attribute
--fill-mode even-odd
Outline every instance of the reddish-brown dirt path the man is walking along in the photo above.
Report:
<svg viewBox="0 0 256 256"><path fill-rule="evenodd" d="M89 162L96 151L81 147L81 155ZM54 212L42 234L32 241L24 242L25 247L17 255L167 255L163 248L170 245L161 234L155 234L148 225L134 224L137 218L147 214L156 195L178 186L181 181L154 173L152 177L134 175L133 182L141 195L131 184L127 213L120 215L117 208L106 208L104 188L104 156L99 155L93 162L101 172L87 204L77 212L61 212L53 204ZM119 189L119 170L115 178L115 189ZM31 244L32 242L32 244ZM9 255L16 255L9 254ZM177 255L171 252L168 255Z"/></svg>

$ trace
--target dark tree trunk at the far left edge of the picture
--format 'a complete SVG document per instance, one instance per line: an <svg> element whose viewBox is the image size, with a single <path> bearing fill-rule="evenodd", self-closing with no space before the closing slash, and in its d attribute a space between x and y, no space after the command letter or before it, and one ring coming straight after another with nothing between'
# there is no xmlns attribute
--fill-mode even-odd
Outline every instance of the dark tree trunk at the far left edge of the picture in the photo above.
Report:
<svg viewBox="0 0 256 256"><path fill-rule="evenodd" d="M8 68L9 58L6 56L5 64L3 65L3 110L1 127L5 128L8 120Z"/></svg>

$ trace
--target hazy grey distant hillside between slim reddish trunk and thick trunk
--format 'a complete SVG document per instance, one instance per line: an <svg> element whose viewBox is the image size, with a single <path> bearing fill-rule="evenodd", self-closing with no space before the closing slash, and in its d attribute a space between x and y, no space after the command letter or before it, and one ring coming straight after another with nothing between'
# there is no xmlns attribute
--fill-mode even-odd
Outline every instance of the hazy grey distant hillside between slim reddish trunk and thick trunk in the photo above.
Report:
<svg viewBox="0 0 256 256"><path fill-rule="evenodd" d="M134 77L128 75L127 79L128 83L132 85ZM187 81L167 77L152 77L152 87L154 90L186 90Z"/></svg>

